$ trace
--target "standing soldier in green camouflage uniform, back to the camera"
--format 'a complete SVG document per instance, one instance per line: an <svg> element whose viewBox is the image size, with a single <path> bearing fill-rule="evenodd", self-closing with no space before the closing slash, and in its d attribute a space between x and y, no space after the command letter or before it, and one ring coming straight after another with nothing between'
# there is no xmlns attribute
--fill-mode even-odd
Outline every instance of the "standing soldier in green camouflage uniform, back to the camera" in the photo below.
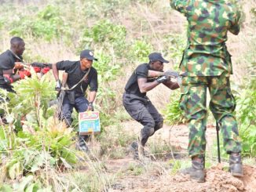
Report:
<svg viewBox="0 0 256 192"><path fill-rule="evenodd" d="M229 82L231 55L225 45L228 31L240 32L240 12L236 5L225 0L170 0L170 6L188 20L188 45L180 64L180 107L188 118L188 154L192 167L182 172L198 182L205 180L208 88L210 110L221 125L224 147L230 154L230 172L233 176L243 176L241 143L233 115L236 101Z"/></svg>

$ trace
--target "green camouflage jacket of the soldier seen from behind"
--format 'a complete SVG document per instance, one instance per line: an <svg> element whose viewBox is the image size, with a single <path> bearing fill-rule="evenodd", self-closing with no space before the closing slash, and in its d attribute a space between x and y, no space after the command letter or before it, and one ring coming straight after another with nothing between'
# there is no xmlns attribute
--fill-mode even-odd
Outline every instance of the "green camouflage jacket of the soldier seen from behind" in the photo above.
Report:
<svg viewBox="0 0 256 192"><path fill-rule="evenodd" d="M184 76L232 74L227 33L239 34L240 12L227 0L170 0L188 20L188 45L180 64Z"/></svg>

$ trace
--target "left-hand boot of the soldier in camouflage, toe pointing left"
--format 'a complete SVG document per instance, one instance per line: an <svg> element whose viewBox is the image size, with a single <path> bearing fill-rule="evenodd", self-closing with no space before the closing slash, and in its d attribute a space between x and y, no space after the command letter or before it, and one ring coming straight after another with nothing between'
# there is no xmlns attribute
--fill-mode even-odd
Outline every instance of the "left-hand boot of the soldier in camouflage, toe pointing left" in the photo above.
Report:
<svg viewBox="0 0 256 192"><path fill-rule="evenodd" d="M201 162L192 160L192 166L190 168L182 169L180 173L184 175L189 175L191 179L195 179L198 183L203 183L205 182L203 165L203 159L201 159Z"/></svg>

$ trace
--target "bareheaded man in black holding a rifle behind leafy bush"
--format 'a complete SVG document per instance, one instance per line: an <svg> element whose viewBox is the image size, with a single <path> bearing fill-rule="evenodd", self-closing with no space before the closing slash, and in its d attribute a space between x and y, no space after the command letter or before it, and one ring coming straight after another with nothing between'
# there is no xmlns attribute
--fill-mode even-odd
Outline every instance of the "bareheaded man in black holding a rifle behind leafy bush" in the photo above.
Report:
<svg viewBox="0 0 256 192"><path fill-rule="evenodd" d="M25 50L25 43L22 38L13 37L10 41L10 49L0 55L0 89L8 92L14 92L11 83L30 77L31 73L27 70L20 69L16 74L18 67L23 62L22 54Z"/></svg>

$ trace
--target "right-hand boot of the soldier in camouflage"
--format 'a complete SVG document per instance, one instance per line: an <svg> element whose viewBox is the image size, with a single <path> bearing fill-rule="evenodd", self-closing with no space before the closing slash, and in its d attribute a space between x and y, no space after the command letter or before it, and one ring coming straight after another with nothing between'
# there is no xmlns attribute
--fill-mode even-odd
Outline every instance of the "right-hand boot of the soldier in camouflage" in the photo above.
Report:
<svg viewBox="0 0 256 192"><path fill-rule="evenodd" d="M243 176L243 165L240 153L232 153L229 155L229 171L232 176Z"/></svg>

